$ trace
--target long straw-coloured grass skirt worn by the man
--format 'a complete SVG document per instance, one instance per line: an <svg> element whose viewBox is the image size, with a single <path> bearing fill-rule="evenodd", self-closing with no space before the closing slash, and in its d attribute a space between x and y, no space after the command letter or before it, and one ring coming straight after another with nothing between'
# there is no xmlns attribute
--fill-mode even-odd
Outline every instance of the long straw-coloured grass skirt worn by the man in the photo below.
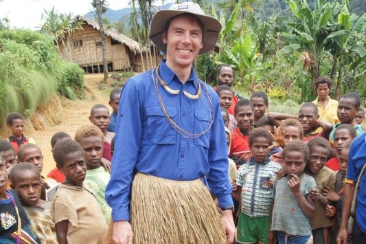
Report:
<svg viewBox="0 0 366 244"><path fill-rule="evenodd" d="M137 174L130 216L133 243L227 243L220 212L201 179Z"/></svg>

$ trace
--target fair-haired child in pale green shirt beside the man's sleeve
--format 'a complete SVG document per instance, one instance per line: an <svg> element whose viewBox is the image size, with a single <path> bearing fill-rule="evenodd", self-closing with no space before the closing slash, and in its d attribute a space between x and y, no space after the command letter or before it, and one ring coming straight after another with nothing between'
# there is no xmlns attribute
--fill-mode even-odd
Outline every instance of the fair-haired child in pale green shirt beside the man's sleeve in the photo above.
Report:
<svg viewBox="0 0 366 244"><path fill-rule="evenodd" d="M87 175L84 184L88 186L98 201L100 210L108 224L111 219L111 208L104 198L106 185L111 175L100 164L103 154L103 133L95 125L82 126L75 133L75 140L84 150L84 159L87 163Z"/></svg>

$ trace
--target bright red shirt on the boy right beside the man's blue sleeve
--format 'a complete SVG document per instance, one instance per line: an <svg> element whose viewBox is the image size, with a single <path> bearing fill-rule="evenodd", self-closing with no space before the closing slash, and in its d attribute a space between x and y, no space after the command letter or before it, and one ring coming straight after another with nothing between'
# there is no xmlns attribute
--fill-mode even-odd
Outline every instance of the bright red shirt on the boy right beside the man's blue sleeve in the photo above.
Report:
<svg viewBox="0 0 366 244"><path fill-rule="evenodd" d="M239 128L231 131L230 156L236 156L247 161L251 158L251 148L249 148L249 135L243 135Z"/></svg>

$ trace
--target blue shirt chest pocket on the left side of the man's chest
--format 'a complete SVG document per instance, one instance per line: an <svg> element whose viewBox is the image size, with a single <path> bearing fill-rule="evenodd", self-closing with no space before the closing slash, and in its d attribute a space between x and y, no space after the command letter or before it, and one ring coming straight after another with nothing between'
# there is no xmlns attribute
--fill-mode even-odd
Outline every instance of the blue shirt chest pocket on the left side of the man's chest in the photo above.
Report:
<svg viewBox="0 0 366 244"><path fill-rule="evenodd" d="M169 118L176 121L176 108L165 106ZM175 144L176 131L170 125L161 107L146 108L148 140L154 144Z"/></svg>

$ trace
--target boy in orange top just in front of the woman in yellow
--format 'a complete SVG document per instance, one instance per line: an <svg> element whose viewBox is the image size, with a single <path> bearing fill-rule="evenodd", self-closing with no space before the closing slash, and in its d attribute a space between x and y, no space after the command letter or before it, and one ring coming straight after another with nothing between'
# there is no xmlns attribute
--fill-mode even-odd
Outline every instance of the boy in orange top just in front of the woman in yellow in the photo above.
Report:
<svg viewBox="0 0 366 244"><path fill-rule="evenodd" d="M303 142L308 142L314 137L329 139L329 134L333 129L330 122L319 120L317 105L306 102L299 109L299 122L304 130Z"/></svg>

